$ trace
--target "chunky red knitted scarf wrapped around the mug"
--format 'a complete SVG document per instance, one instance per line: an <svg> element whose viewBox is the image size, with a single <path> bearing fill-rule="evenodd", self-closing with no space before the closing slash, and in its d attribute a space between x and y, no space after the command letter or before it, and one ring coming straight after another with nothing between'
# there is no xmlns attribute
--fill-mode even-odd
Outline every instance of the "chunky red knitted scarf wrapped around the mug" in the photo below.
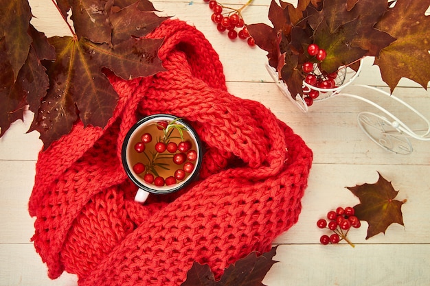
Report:
<svg viewBox="0 0 430 286"><path fill-rule="evenodd" d="M73 126L40 152L30 198L32 240L49 269L84 285L181 285L194 261L219 278L250 252L267 252L299 216L312 152L258 102L227 92L218 55L194 27L164 21L166 71L122 80L105 128ZM188 121L205 146L199 180L134 202L121 161L126 132L140 118L169 113Z"/></svg>

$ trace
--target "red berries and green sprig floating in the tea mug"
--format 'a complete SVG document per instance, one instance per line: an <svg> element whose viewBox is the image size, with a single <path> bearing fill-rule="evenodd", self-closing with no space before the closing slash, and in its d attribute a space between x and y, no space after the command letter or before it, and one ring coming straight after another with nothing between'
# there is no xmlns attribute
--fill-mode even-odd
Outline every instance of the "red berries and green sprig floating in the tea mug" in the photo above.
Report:
<svg viewBox="0 0 430 286"><path fill-rule="evenodd" d="M176 143L172 141L172 131L174 128L181 130L181 141ZM163 187L164 185L171 186L177 184L178 181L184 180L188 174L191 174L194 170L194 162L197 160L197 152L192 149L192 143L188 140L184 140L182 137L183 126L174 123L168 123L167 121L157 122L157 129L163 132L163 136L160 136L157 143L153 145L153 150L146 150L146 145L152 142L152 135L145 132L140 136L140 141L135 143L134 150L137 154L144 154L147 161L146 164L137 162L133 165L133 171L142 176L144 181L148 184L154 184L157 187ZM150 153L150 156L146 154L146 151ZM150 158L152 157L152 158ZM170 160L170 163L166 163L166 159ZM160 162L162 160L162 162ZM178 168L172 171L172 176L163 178L159 176L156 167L164 170L170 170L171 165L177 165Z"/></svg>

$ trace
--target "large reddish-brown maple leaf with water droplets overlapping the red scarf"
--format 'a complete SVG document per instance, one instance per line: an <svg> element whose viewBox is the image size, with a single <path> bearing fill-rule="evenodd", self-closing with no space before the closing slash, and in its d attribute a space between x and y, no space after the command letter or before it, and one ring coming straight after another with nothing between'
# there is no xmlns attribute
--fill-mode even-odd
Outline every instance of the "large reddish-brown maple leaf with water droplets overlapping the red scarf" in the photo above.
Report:
<svg viewBox="0 0 430 286"><path fill-rule="evenodd" d="M46 64L50 86L31 130L41 133L45 146L67 134L79 117L85 126L105 126L117 103L117 93L102 68L124 79L161 69L157 50L162 40L129 38L111 49L85 38L53 37L57 58Z"/></svg>

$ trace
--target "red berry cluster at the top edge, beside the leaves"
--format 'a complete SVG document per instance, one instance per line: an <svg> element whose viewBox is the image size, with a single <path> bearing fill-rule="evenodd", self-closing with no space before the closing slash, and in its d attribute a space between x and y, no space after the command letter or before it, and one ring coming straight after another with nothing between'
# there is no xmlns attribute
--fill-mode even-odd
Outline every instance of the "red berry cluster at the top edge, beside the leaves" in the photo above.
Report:
<svg viewBox="0 0 430 286"><path fill-rule="evenodd" d="M247 40L250 47L256 45L254 39L249 35L248 29L245 26L245 21L240 14L240 11L246 7L242 6L239 10L234 8L228 8L215 0L205 0L209 3L209 8L212 10L212 22L216 24L216 29L219 32L227 32L227 36L231 40L240 38L242 40ZM229 12L224 12L223 10L229 10ZM224 12L224 13L223 13Z"/></svg>

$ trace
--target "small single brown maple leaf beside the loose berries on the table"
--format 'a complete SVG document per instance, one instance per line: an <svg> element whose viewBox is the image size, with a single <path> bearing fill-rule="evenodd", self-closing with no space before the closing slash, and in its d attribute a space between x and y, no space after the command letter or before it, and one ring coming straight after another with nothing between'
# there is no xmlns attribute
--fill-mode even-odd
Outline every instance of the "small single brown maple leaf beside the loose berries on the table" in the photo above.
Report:
<svg viewBox="0 0 430 286"><path fill-rule="evenodd" d="M378 233L385 233L391 224L397 223L405 226L401 207L406 200L401 202L394 200L398 191L394 190L391 182L385 180L379 172L378 175L378 182L374 184L366 183L348 187L361 202L354 206L355 215L369 224L366 239Z"/></svg>

